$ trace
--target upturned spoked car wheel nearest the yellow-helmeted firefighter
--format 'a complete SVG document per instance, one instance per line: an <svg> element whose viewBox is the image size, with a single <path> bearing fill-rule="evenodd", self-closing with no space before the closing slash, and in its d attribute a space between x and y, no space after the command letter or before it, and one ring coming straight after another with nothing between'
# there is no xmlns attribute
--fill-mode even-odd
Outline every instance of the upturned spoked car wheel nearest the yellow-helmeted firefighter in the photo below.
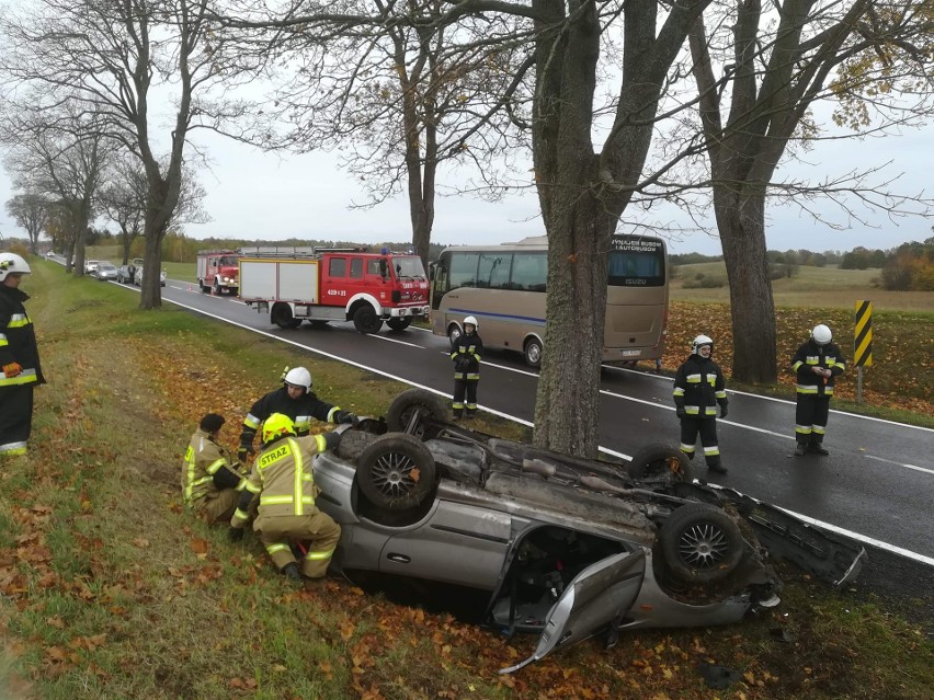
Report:
<svg viewBox="0 0 934 700"><path fill-rule="evenodd" d="M411 435L381 435L363 450L356 463L360 492L378 508L414 508L434 491L434 458L424 443Z"/></svg>

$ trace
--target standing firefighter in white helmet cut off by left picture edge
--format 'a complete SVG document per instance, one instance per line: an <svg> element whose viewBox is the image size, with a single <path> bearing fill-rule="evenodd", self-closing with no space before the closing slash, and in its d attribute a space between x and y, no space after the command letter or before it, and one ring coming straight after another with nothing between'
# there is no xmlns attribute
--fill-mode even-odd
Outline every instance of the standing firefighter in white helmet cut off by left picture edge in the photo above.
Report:
<svg viewBox="0 0 934 700"><path fill-rule="evenodd" d="M33 390L44 385L33 322L20 289L29 263L0 253L0 457L26 454L33 428Z"/></svg>

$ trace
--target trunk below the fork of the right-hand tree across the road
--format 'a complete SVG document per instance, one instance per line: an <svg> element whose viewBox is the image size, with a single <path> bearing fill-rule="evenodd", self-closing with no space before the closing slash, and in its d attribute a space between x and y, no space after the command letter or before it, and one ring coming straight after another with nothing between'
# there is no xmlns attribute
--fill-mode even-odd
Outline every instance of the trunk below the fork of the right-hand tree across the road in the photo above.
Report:
<svg viewBox="0 0 934 700"><path fill-rule="evenodd" d="M745 382L776 378L775 303L765 246L765 194L716 192L714 208L730 283L732 376Z"/></svg>

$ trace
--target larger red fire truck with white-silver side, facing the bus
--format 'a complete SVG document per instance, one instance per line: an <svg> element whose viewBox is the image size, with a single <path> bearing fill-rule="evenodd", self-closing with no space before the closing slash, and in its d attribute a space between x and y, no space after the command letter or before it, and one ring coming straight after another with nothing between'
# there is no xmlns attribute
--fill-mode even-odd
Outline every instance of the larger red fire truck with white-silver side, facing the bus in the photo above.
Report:
<svg viewBox="0 0 934 700"><path fill-rule="evenodd" d="M240 298L281 328L353 321L376 333L428 318L428 276L418 255L352 249L241 249Z"/></svg>

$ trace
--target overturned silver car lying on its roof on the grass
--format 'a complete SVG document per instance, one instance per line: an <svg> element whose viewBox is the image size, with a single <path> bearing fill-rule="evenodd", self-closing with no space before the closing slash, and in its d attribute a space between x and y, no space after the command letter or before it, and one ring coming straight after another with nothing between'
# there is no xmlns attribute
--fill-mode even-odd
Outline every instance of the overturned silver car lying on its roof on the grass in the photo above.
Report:
<svg viewBox="0 0 934 700"><path fill-rule="evenodd" d="M445 420L411 389L342 426L315 460L342 536L332 569L489 592L485 623L540 635L533 656L594 634L739 621L777 605L774 559L839 586L865 550L736 491L694 482L676 449L628 466L559 455Z"/></svg>

